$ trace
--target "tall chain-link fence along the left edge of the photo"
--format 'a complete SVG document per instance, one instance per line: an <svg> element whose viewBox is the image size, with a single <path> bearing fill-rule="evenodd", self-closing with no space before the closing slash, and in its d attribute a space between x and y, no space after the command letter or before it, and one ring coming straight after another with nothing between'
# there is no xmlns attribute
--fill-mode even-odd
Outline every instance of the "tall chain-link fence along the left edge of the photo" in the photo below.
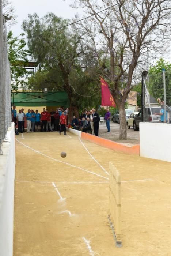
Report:
<svg viewBox="0 0 171 256"><path fill-rule="evenodd" d="M11 126L11 76L7 51L7 30L0 0L0 152L1 144Z"/></svg>

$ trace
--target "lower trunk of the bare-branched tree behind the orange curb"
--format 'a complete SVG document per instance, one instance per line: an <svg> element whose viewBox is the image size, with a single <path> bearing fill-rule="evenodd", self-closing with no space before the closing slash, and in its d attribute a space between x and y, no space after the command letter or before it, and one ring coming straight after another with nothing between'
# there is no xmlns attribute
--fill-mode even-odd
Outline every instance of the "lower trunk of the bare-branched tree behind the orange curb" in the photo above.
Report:
<svg viewBox="0 0 171 256"><path fill-rule="evenodd" d="M125 104L121 103L119 107L119 140L126 140L126 113L125 113Z"/></svg>

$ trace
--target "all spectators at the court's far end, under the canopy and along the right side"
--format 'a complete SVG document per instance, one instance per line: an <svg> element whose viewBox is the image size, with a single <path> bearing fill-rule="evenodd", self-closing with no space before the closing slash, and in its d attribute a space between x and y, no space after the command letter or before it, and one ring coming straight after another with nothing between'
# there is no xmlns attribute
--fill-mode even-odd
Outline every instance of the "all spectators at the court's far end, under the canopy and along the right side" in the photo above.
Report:
<svg viewBox="0 0 171 256"><path fill-rule="evenodd" d="M110 132L110 116L111 113L107 109L105 120L107 126L107 132ZM41 113L38 110L28 109L27 113L24 113L24 109L16 111L16 106L12 109L12 121L15 125L18 124L18 132L25 132L25 119L27 132L48 132L58 131L60 134L64 131L66 135L66 125L68 125L68 108L64 110L63 107L56 108L56 111L43 108ZM81 112L79 118L73 116L72 122L68 125L73 129L79 131L88 132L95 136L99 136L99 122L100 116L93 108L91 110L85 109Z"/></svg>

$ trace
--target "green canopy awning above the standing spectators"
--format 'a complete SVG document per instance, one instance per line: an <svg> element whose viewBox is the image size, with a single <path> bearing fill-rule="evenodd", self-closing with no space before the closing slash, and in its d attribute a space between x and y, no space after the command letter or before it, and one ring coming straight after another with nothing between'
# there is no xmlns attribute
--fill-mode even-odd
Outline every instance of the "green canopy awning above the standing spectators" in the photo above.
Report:
<svg viewBox="0 0 171 256"><path fill-rule="evenodd" d="M12 92L11 104L14 106L64 106L69 108L68 94L65 91Z"/></svg>

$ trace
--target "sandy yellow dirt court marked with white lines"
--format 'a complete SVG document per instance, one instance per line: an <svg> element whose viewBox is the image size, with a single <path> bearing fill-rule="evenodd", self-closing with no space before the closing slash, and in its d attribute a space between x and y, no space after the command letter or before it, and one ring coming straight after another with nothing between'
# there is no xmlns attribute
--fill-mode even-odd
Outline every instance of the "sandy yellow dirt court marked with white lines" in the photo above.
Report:
<svg viewBox="0 0 171 256"><path fill-rule="evenodd" d="M14 256L171 255L170 163L71 133L16 139ZM122 180L122 248L108 222L110 161Z"/></svg>

